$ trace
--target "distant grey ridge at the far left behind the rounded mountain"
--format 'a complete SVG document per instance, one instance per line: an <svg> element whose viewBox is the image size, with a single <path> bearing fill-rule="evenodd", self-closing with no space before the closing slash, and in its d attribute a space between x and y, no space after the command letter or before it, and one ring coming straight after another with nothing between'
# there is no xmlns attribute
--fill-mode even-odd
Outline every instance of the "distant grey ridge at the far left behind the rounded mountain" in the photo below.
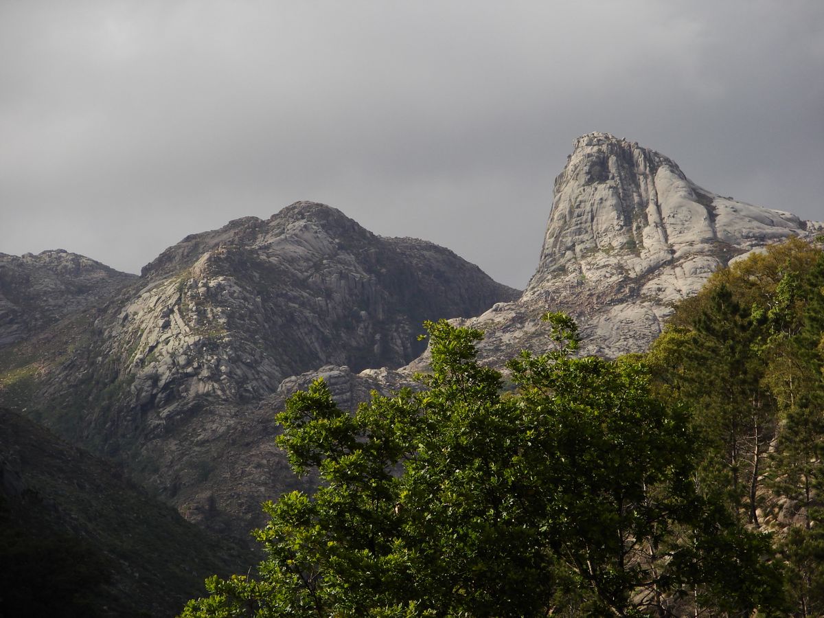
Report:
<svg viewBox="0 0 824 618"><path fill-rule="evenodd" d="M0 347L94 307L137 277L62 249L0 254Z"/></svg>

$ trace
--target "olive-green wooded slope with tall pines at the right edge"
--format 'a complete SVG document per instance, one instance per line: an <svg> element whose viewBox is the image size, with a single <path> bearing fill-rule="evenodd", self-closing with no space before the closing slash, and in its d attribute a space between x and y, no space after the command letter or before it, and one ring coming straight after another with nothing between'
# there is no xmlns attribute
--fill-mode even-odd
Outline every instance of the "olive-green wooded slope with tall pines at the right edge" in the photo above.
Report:
<svg viewBox="0 0 824 618"><path fill-rule="evenodd" d="M714 274L649 361L691 406L700 485L775 531L793 615L824 615L824 251L790 240Z"/></svg>

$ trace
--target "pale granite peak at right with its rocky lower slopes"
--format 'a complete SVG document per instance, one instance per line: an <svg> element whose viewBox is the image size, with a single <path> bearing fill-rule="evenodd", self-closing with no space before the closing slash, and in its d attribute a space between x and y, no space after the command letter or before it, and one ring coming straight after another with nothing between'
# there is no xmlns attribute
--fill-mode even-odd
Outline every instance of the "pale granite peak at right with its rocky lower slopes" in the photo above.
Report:
<svg viewBox="0 0 824 618"><path fill-rule="evenodd" d="M822 223L702 189L637 143L589 133L555 179L541 260L522 297L458 322L485 330L481 356L497 365L520 349L549 348L539 320L545 311L576 318L583 353L642 352L672 304L698 292L714 270L821 230ZM414 363L424 365L425 358Z"/></svg>

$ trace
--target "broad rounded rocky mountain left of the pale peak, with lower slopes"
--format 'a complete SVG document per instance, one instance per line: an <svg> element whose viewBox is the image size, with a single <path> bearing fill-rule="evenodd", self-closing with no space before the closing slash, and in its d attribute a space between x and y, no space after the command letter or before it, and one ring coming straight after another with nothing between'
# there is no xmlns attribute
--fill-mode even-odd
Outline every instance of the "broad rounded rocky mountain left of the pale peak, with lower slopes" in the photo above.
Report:
<svg viewBox="0 0 824 618"><path fill-rule="evenodd" d="M0 402L248 540L260 501L294 485L273 442L284 381L400 367L424 350L425 320L518 295L450 250L299 202L187 236L136 282L7 349ZM353 400L381 386L363 384Z"/></svg>

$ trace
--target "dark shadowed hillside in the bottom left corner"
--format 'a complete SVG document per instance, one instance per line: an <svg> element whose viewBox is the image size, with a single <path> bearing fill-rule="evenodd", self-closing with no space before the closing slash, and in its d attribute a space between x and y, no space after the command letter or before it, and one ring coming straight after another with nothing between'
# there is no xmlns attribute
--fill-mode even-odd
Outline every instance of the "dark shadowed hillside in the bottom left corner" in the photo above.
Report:
<svg viewBox="0 0 824 618"><path fill-rule="evenodd" d="M0 616L174 616L252 556L0 409Z"/></svg>

